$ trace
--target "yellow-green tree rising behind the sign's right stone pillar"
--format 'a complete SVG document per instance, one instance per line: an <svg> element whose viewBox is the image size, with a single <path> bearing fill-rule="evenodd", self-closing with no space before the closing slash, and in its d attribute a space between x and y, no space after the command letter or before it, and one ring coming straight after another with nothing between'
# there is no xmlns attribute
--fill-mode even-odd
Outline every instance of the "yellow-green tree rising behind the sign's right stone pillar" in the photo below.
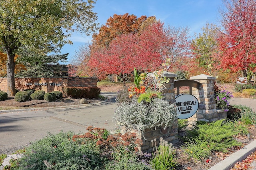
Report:
<svg viewBox="0 0 256 170"><path fill-rule="evenodd" d="M195 35L196 38L191 43L196 63L210 75L213 75L214 69L212 68L216 62L214 60L214 54L217 52L219 32L220 27L213 23L206 23L202 27L202 33Z"/></svg>

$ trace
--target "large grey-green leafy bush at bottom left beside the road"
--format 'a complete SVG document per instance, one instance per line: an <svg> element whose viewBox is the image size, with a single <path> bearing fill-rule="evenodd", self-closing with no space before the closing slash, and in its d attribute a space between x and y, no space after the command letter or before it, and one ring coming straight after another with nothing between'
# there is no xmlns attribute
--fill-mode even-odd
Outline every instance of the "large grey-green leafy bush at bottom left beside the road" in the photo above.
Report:
<svg viewBox="0 0 256 170"><path fill-rule="evenodd" d="M48 134L35 141L18 160L19 169L102 170L105 158L95 147L74 142L73 133Z"/></svg>

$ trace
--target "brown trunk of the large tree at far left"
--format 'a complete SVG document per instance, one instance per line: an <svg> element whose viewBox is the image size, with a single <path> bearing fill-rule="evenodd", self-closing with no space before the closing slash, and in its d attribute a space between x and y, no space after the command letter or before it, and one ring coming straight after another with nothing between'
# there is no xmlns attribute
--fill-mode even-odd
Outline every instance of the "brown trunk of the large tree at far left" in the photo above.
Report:
<svg viewBox="0 0 256 170"><path fill-rule="evenodd" d="M6 70L7 70L7 94L8 97L13 97L16 94L15 90L15 78L14 78L14 57L15 54L7 53L7 64L6 64Z"/></svg>

